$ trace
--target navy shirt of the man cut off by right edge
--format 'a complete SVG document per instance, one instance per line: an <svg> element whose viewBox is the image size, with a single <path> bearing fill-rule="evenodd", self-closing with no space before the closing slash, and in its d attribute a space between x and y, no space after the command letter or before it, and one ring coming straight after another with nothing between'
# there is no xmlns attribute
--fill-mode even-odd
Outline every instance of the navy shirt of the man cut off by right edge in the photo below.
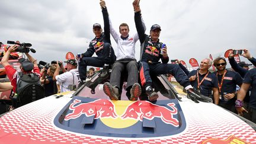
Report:
<svg viewBox="0 0 256 144"><path fill-rule="evenodd" d="M256 68L249 70L244 77L244 83L251 84L249 107L256 109Z"/></svg>

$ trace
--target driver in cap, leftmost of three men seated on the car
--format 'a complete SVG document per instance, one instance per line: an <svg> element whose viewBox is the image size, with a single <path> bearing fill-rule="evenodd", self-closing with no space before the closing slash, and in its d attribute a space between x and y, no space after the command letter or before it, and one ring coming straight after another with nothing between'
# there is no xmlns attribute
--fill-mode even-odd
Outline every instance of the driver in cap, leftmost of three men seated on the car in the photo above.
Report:
<svg viewBox="0 0 256 144"><path fill-rule="evenodd" d="M102 12L104 19L104 33L101 25L95 23L92 26L95 38L90 41L87 52L82 53L82 58L79 59L79 57L76 57L76 59L78 59L78 69L81 79L79 87L84 84L85 79L87 78L87 66L103 67L101 77L105 77L108 73L108 66L116 60L116 55L114 54L114 49L111 46L110 41L110 26L107 9L103 9ZM97 57L92 57L94 53L96 53Z"/></svg>

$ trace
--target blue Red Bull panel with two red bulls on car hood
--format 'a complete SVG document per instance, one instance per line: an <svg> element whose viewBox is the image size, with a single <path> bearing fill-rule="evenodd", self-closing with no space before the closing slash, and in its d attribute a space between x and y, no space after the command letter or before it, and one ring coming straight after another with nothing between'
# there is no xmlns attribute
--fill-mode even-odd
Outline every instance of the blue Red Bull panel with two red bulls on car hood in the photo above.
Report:
<svg viewBox="0 0 256 144"><path fill-rule="evenodd" d="M111 137L175 135L183 132L186 126L178 100L152 104L149 101L111 101L76 96L57 114L54 123L71 132L95 136L112 133Z"/></svg>

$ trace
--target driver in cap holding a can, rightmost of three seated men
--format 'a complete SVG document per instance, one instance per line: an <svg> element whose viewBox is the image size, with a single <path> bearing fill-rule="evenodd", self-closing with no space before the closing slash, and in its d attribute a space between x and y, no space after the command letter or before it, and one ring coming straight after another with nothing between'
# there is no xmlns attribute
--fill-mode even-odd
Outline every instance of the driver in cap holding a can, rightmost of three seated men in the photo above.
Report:
<svg viewBox="0 0 256 144"><path fill-rule="evenodd" d="M140 81L145 88L146 94L148 94L149 100L155 101L158 98L158 94L152 89L152 79L149 72L155 75L170 73L171 75L174 75L175 79L185 89L193 92L187 75L181 70L180 66L169 64L166 47L164 46L164 48L161 49L163 43L158 39L161 27L158 24L154 24L151 27L150 36L145 34L145 28L143 28L142 18L140 16L139 1L135 0L133 2L133 7L135 9L135 24L141 46L140 52L142 52L140 54L139 63ZM159 62L159 59L162 60L162 63Z"/></svg>

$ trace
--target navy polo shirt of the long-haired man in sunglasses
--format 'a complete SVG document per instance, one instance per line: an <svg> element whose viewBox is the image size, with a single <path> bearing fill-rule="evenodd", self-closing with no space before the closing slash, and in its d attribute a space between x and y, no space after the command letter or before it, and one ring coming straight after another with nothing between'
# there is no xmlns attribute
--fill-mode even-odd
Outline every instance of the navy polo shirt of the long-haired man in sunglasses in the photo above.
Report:
<svg viewBox="0 0 256 144"><path fill-rule="evenodd" d="M217 72L214 72L216 75ZM217 79L219 80L219 84L222 80L222 75L217 75ZM223 79L223 84L222 88L220 91L220 94L223 95L223 92L227 92L228 94L234 93L236 91L236 85L242 85L242 77L238 72L233 72L227 70L224 79ZM233 97L229 101L225 101L224 97L219 101L220 104L235 104L236 98Z"/></svg>

